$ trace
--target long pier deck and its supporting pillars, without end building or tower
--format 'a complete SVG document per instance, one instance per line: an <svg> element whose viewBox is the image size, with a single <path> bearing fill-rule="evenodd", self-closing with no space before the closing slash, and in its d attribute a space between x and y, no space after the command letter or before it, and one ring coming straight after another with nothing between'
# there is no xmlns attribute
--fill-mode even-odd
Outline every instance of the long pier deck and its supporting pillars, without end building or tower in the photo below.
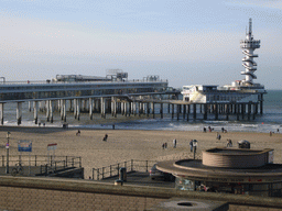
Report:
<svg viewBox="0 0 282 211"><path fill-rule="evenodd" d="M29 103L34 124L39 124L39 112L45 113L45 122L54 122L58 113L62 122L67 123L72 112L79 121L82 113L94 120L95 113L106 119L144 116L161 118L171 115L176 120L254 120L263 112L263 99L259 102L191 102L177 100L180 91L167 87L167 81L96 81L56 84L9 84L0 85L0 121L3 125L4 104L17 103L17 122L22 122L22 103Z"/></svg>

